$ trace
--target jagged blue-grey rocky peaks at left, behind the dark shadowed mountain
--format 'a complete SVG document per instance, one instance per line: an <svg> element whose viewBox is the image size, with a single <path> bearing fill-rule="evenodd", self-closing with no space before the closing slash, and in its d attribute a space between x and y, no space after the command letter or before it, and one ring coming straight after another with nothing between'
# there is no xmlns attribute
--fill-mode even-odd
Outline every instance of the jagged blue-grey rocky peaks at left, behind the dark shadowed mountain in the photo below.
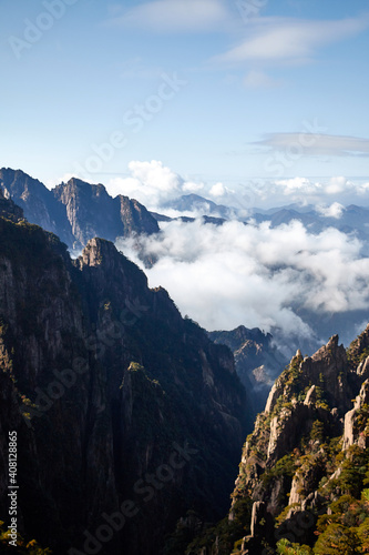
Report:
<svg viewBox="0 0 369 555"><path fill-rule="evenodd" d="M19 204L29 222L55 233L70 249L82 249L90 239L115 241L135 233L158 231L145 206L127 196L110 196L102 184L72 178L52 191L20 170L0 170L0 188Z"/></svg>

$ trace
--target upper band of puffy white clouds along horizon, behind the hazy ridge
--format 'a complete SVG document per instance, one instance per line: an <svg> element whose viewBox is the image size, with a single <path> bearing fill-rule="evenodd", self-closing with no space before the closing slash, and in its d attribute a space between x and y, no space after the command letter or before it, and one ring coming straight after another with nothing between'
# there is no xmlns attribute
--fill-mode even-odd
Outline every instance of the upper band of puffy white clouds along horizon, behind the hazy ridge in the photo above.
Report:
<svg viewBox="0 0 369 555"><path fill-rule="evenodd" d="M363 201L367 202L369 193L369 183L363 180L348 180L345 176L325 180L304 176L280 180L254 179L244 183L233 183L230 189L223 182L207 183L185 179L157 160L132 161L127 176L111 179L106 183L109 193L113 196L124 194L136 199L148 210L167 215L170 213L167 210L164 211L163 205L167 201L189 193L236 209L239 218L247 218L254 206L275 208L286 204L287 200L288 203L299 204L330 205L332 202L339 202L348 205L356 202L361 205ZM173 215L178 216L181 213L173 212ZM197 210L183 215L197 218L202 213Z"/></svg>

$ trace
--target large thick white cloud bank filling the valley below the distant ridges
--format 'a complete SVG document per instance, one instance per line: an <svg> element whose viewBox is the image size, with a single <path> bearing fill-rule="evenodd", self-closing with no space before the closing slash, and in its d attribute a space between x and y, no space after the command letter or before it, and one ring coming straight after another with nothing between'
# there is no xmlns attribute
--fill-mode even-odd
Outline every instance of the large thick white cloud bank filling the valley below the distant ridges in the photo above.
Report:
<svg viewBox="0 0 369 555"><path fill-rule="evenodd" d="M306 337L312 331L296 307L320 316L369 307L369 259L357 239L331 228L312 235L297 221L276 229L172 222L140 242L160 259L146 270L150 285L165 286L208 330L244 324ZM136 256L130 241L119 248Z"/></svg>

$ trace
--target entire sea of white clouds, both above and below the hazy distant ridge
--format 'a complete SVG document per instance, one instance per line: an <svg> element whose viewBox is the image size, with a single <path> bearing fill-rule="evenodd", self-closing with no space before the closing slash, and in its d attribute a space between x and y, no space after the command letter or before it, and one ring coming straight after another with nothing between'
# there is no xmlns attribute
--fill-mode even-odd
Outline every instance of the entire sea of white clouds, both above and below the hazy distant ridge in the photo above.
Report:
<svg viewBox="0 0 369 555"><path fill-rule="evenodd" d="M365 204L369 190L369 183L358 185L345 178L325 183L295 178L249 183L239 193L223 183L188 181L157 161L131 162L130 171L131 176L110 182L110 193L127 194L172 218L180 213L164 209L167 201L195 192L245 215L267 199L274 206L312 203L320 215L339 220L346 200L351 203L353 195ZM327 340L319 325L322 317L359 311L357 319L365 324L369 259L355 234L335 228L314 234L298 221L271 228L252 219L247 224L234 220L215 225L197 219L161 226L157 235L119 240L117 248L145 270L150 286L164 286L181 312L206 330L244 324L271 332L281 342L295 337L298 344ZM156 262L145 268L145 259Z"/></svg>

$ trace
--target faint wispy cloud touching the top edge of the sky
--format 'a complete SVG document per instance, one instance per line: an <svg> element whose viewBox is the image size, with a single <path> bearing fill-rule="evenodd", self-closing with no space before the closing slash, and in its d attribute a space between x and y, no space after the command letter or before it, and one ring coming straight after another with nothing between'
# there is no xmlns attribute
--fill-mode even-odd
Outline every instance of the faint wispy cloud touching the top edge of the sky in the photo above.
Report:
<svg viewBox="0 0 369 555"><path fill-rule="evenodd" d="M154 32L222 30L229 13L222 0L156 0L115 13L110 23Z"/></svg>

